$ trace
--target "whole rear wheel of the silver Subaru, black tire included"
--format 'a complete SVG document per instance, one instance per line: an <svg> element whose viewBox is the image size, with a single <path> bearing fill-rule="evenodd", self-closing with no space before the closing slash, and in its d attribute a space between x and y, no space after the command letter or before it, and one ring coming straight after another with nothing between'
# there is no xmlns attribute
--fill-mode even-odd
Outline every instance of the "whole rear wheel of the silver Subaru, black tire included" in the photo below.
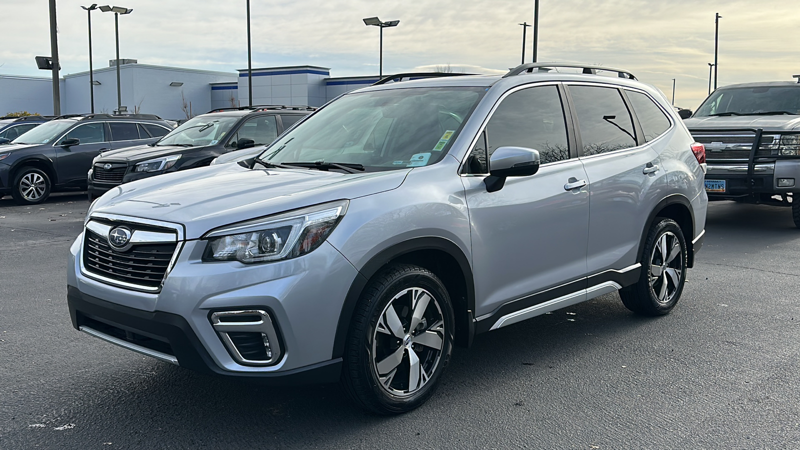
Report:
<svg viewBox="0 0 800 450"><path fill-rule="evenodd" d="M673 254L674 246L678 247L679 254ZM635 284L620 289L622 303L641 315L668 314L681 298L686 283L686 260L686 240L681 227L672 219L657 217L647 233L639 261L642 275Z"/></svg>

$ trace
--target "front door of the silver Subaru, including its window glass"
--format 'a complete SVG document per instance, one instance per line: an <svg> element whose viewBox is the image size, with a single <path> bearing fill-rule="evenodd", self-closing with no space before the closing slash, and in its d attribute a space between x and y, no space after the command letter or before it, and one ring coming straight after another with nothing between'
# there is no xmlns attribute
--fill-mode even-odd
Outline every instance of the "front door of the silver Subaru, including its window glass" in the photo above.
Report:
<svg viewBox="0 0 800 450"><path fill-rule="evenodd" d="M470 175L462 177L478 319L586 288L589 191L569 141L557 85L506 94L478 139L467 163ZM486 161L503 146L539 151L542 166L488 192Z"/></svg>

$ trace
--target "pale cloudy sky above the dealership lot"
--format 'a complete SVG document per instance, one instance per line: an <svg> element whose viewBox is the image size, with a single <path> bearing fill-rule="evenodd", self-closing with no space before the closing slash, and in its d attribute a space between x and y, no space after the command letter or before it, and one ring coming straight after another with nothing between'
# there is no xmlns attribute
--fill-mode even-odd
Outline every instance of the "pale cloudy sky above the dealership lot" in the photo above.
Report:
<svg viewBox="0 0 800 450"><path fill-rule="evenodd" d="M120 0L120 56L145 64L233 71L246 68L245 0ZM0 74L46 76L48 2L0 0ZM62 73L88 70L82 0L58 0ZM521 58L522 26L533 0L251 0L253 65L330 67L334 77L378 73L378 29L362 18L400 19L384 30L384 73L450 64L503 73ZM720 86L791 80L800 74L800 8L790 0L541 0L539 61L622 67L696 108L714 61L720 19ZM94 62L114 58L114 18L93 13ZM532 30L529 28L529 31ZM530 61L528 33L526 61Z"/></svg>

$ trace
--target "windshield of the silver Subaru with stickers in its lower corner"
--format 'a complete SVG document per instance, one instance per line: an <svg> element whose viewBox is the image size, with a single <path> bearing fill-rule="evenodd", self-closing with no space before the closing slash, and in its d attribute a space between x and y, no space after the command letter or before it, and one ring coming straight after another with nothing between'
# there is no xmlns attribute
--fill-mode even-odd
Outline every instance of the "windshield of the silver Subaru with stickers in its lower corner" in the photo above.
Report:
<svg viewBox="0 0 800 450"><path fill-rule="evenodd" d="M485 88L426 87L346 94L283 135L269 163L347 163L386 171L438 162Z"/></svg>

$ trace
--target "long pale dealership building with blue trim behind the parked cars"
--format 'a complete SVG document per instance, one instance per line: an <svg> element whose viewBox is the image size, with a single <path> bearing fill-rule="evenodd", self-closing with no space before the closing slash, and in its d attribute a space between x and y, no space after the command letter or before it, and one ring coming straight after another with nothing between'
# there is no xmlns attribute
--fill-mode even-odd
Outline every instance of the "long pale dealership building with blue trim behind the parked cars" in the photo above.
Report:
<svg viewBox="0 0 800 450"><path fill-rule="evenodd" d="M93 71L94 112L117 110L115 63L112 59L108 67ZM263 67L252 72L254 105L322 106L378 81L378 77L330 78L330 68L318 66ZM216 108L249 104L246 69L230 73L121 59L119 74L122 105L129 113L186 119ZM59 82L62 115L91 111L88 71L64 75ZM53 114L52 78L0 74L0 116L22 110Z"/></svg>

